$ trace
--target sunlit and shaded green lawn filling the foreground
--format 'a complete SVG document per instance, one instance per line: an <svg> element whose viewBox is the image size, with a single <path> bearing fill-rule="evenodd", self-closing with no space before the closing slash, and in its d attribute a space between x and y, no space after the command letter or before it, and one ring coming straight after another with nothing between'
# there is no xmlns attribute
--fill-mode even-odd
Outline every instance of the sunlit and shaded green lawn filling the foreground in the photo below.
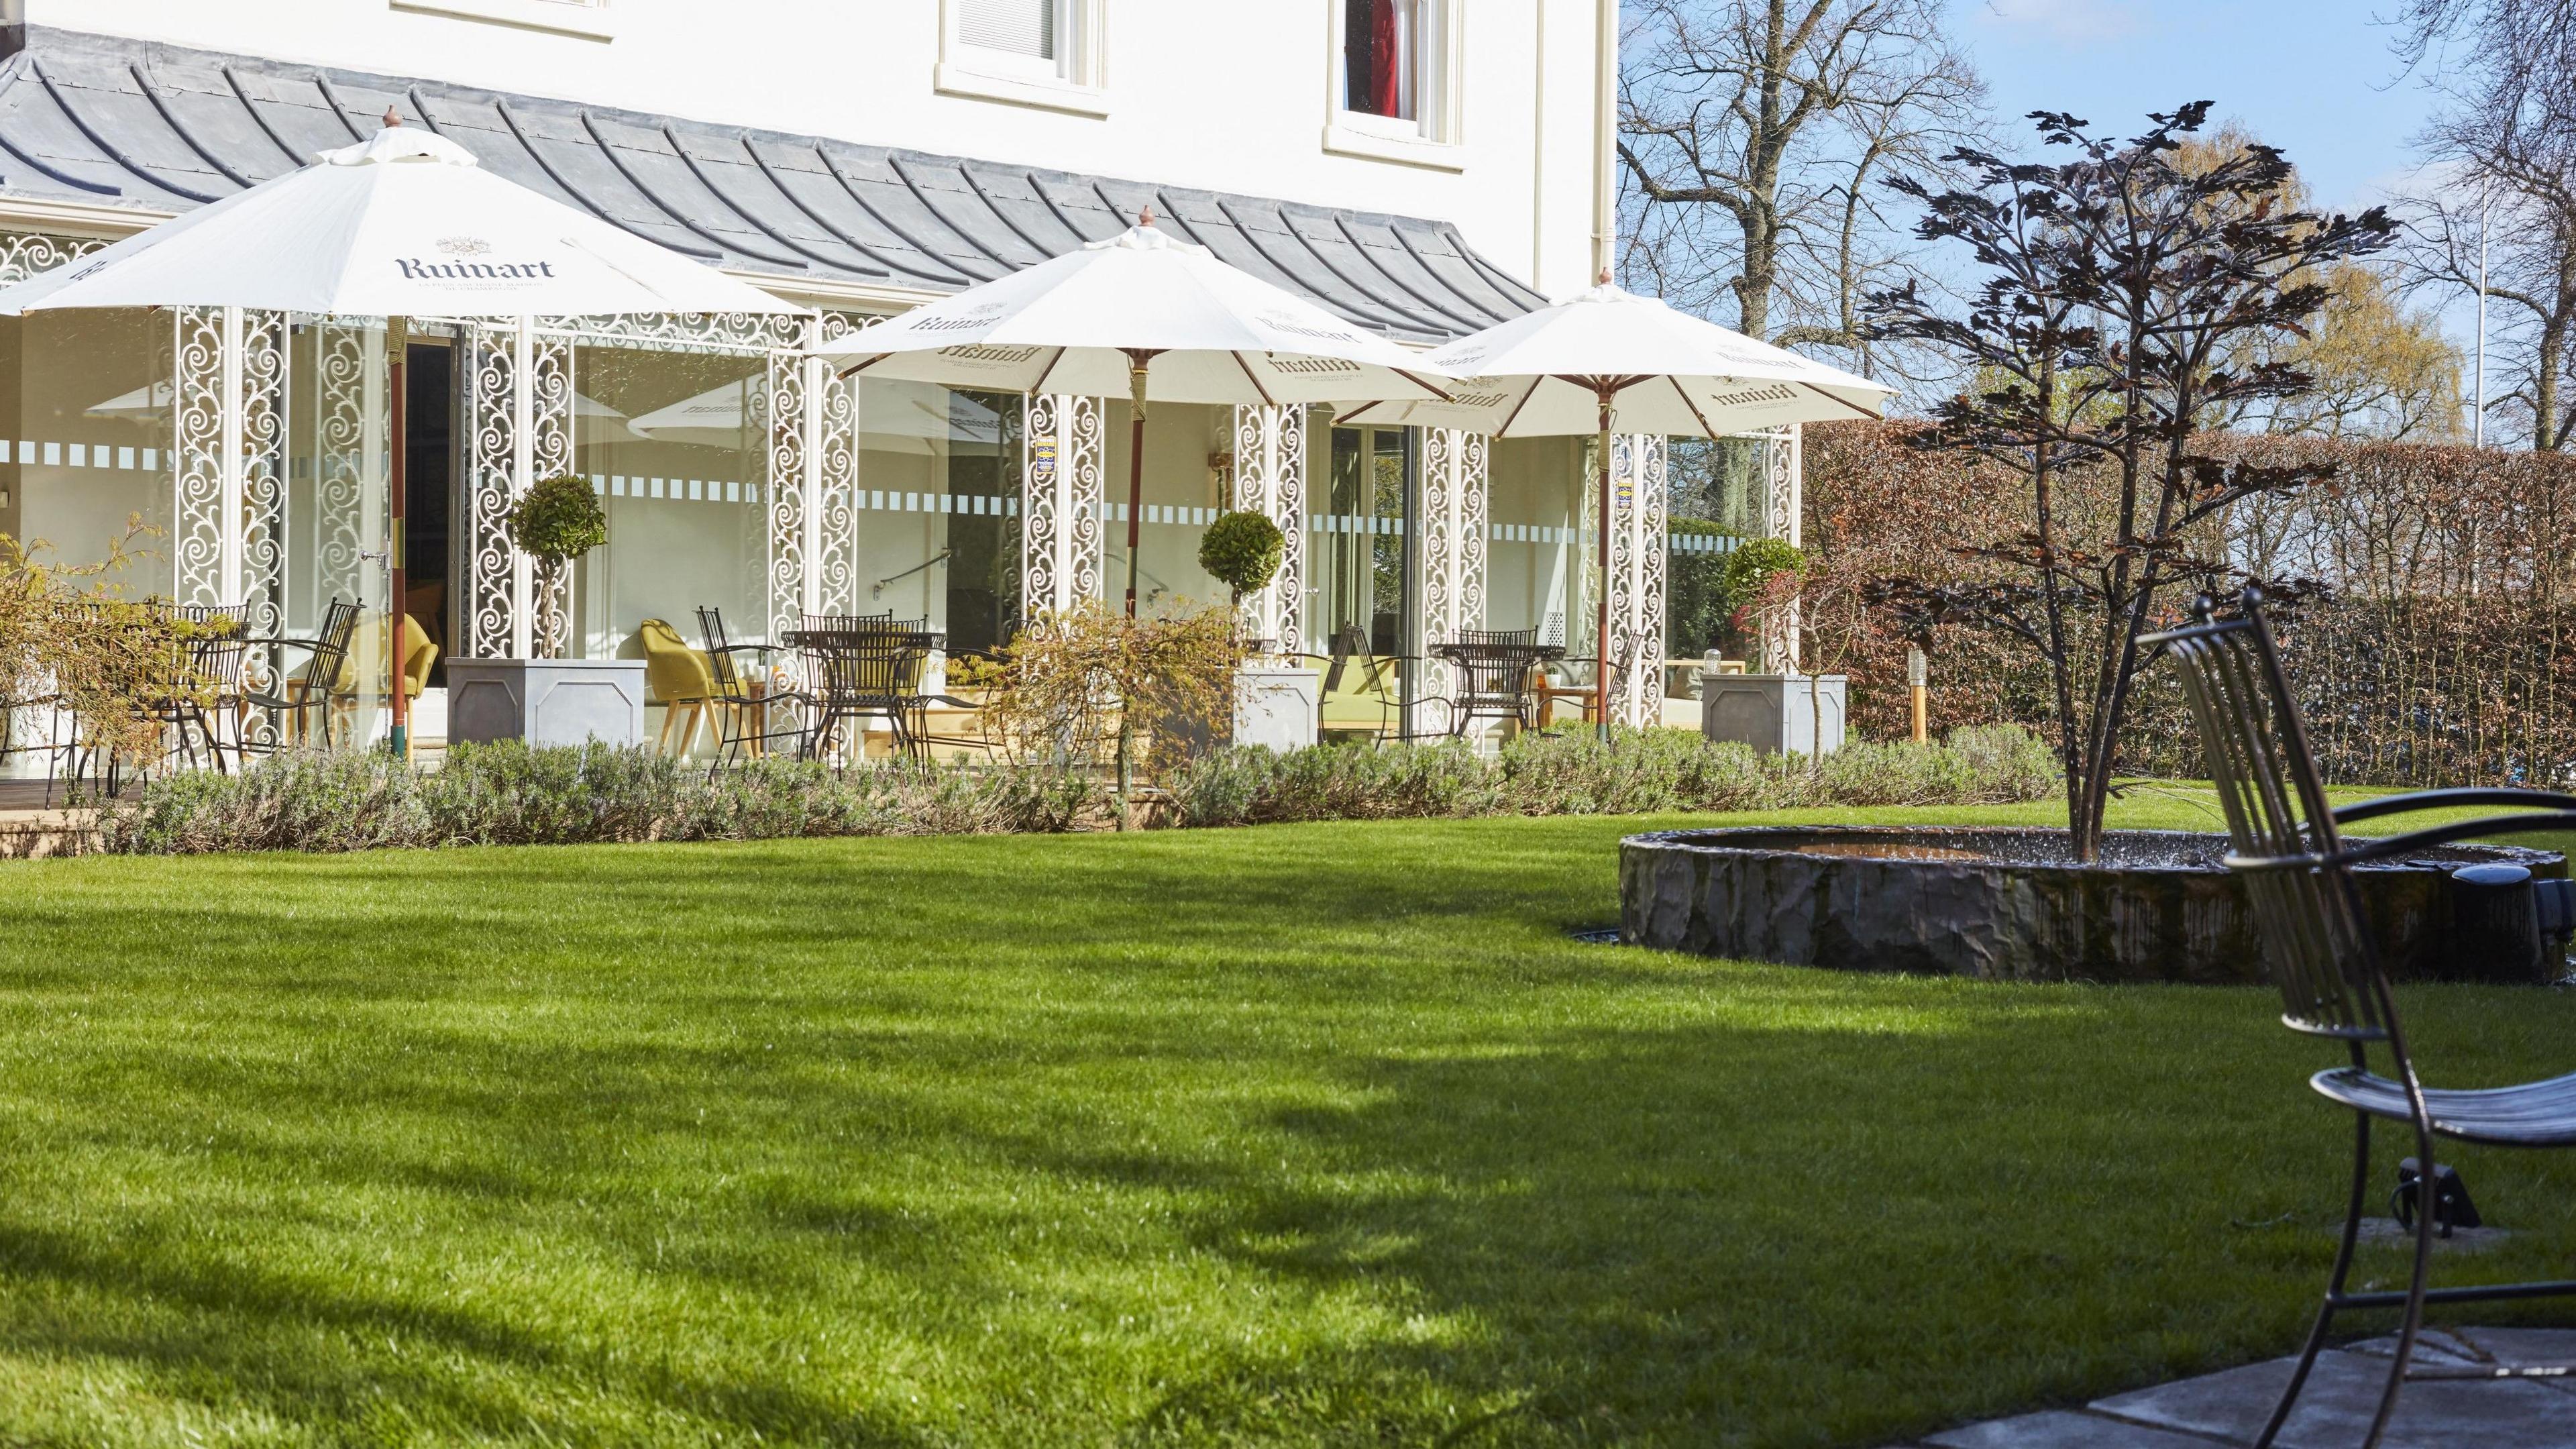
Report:
<svg viewBox="0 0 2576 1449"><path fill-rule="evenodd" d="M1566 941L1649 825L0 866L0 1444L1868 1446L2295 1341L2275 1000Z"/></svg>

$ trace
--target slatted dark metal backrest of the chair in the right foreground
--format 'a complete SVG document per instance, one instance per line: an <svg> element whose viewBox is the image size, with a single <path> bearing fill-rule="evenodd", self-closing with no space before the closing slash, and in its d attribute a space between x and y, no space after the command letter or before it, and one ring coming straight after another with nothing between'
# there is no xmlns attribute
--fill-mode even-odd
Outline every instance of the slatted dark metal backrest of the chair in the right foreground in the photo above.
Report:
<svg viewBox="0 0 2576 1449"><path fill-rule="evenodd" d="M2202 598L2184 629L2151 634L2182 668L2218 807L2228 820L2228 869L2254 897L2264 959L2280 985L2282 1024L2316 1036L2388 1036L2385 980L2362 926L2352 864L2342 856L2326 786L2290 676L2246 588L2233 619Z"/></svg>

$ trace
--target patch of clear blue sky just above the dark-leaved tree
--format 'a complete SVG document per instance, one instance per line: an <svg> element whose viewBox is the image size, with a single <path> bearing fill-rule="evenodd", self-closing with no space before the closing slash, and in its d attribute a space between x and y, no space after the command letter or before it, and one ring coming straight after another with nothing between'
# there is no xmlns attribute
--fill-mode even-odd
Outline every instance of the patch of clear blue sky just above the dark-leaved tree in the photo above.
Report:
<svg viewBox="0 0 2576 1449"><path fill-rule="evenodd" d="M2287 152L2321 206L2403 186L2432 98L2398 77L2396 0L1958 0L1953 34L1986 77L2002 139L2027 111L2074 111L2130 134L2148 111L2215 101Z"/></svg>

